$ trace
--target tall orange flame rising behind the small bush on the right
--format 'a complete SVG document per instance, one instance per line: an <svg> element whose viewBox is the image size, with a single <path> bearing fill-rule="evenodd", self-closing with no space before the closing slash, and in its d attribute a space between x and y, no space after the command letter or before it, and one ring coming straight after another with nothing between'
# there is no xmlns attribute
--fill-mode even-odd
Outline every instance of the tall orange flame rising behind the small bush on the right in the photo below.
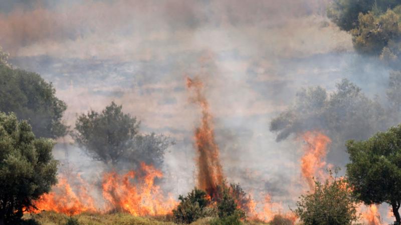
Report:
<svg viewBox="0 0 401 225"><path fill-rule="evenodd" d="M304 155L301 158L302 176L306 179L309 189L315 186L313 177L324 177L324 166L326 162L327 145L331 142L330 138L318 131L307 131L302 134L305 141Z"/></svg>

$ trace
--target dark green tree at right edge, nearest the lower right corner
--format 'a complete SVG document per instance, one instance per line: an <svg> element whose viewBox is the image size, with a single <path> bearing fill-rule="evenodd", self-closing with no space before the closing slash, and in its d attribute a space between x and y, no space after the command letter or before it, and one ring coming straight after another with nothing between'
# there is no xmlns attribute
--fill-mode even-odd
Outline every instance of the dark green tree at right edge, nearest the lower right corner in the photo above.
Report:
<svg viewBox="0 0 401 225"><path fill-rule="evenodd" d="M346 147L346 173L355 196L365 204L390 204L396 224L401 224L401 125L367 140L349 140Z"/></svg>

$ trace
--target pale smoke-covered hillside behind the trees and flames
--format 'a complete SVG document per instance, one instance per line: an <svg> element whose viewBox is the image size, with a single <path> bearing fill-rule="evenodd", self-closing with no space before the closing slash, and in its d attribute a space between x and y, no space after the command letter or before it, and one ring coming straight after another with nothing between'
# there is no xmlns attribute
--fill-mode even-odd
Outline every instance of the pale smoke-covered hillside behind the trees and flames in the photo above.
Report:
<svg viewBox="0 0 401 225"><path fill-rule="evenodd" d="M180 194L194 185L200 119L184 78L200 77L229 180L289 200L282 184L300 177L302 143L275 142L270 119L304 86L332 90L347 77L383 96L387 82L325 17L327 1L1 0L0 45L14 65L53 82L66 123L115 100L143 132L175 138L166 170L181 177L171 184Z"/></svg>

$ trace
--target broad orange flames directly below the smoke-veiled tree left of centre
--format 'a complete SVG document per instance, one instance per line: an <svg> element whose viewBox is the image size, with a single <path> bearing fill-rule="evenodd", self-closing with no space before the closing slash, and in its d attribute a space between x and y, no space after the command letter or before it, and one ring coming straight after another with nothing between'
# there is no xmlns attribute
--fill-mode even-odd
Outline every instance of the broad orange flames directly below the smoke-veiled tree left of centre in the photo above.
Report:
<svg viewBox="0 0 401 225"><path fill-rule="evenodd" d="M172 196L165 199L160 187L154 184L154 179L162 176L160 170L143 162L137 172L129 171L124 175L105 173L102 183L103 197L114 209L133 215L168 214L177 202ZM135 178L137 182L134 182Z"/></svg>

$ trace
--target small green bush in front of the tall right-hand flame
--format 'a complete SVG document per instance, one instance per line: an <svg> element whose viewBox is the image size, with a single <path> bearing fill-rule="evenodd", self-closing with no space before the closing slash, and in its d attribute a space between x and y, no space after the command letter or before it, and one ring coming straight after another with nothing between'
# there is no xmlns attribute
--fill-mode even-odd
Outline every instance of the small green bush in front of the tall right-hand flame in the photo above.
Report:
<svg viewBox="0 0 401 225"><path fill-rule="evenodd" d="M342 178L332 176L324 183L315 181L315 189L301 195L294 210L305 225L351 225L358 219L354 197Z"/></svg>

